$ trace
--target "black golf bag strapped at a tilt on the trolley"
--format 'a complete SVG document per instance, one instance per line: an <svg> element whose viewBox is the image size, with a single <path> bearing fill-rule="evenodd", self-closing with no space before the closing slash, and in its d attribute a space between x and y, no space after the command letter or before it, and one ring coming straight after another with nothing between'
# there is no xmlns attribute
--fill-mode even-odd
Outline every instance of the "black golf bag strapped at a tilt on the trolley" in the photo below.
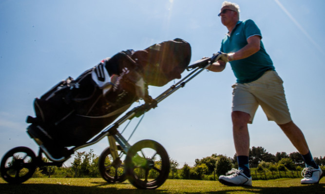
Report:
<svg viewBox="0 0 325 194"><path fill-rule="evenodd" d="M137 99L150 100L148 85L163 86L181 78L190 59L191 46L182 39L106 58L78 78L69 77L36 98L36 117L29 116L27 122L39 126L39 132L30 133L61 147L82 145Z"/></svg>

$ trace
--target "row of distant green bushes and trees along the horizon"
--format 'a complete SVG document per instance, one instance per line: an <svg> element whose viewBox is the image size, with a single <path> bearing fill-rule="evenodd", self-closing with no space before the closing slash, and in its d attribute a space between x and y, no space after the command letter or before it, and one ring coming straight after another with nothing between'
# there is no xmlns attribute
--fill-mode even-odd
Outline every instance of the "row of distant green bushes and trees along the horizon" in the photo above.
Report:
<svg viewBox="0 0 325 194"><path fill-rule="evenodd" d="M277 178L302 177L301 171L305 167L302 156L298 153L278 152L269 154L262 147L252 147L249 151L250 173L253 180L269 180ZM232 158L225 155L213 154L201 159L195 159L194 166L185 165L179 168L176 160L170 158L171 179L218 180L232 168L237 169L236 155ZM48 160L43 158L45 162ZM314 158L315 162L325 170L325 157ZM33 177L100 177L98 172L98 155L90 152L76 152L70 167L40 167Z"/></svg>

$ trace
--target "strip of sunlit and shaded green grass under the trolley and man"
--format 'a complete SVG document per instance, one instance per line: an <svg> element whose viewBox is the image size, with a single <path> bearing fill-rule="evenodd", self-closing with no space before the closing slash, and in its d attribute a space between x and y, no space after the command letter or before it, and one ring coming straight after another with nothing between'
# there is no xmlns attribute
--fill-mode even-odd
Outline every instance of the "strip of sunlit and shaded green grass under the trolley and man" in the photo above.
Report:
<svg viewBox="0 0 325 194"><path fill-rule="evenodd" d="M256 180L252 187L229 187L218 181L168 179L156 190L139 190L128 181L108 184L101 178L31 178L19 184L0 179L0 194L325 194L320 184L301 185L300 178Z"/></svg>

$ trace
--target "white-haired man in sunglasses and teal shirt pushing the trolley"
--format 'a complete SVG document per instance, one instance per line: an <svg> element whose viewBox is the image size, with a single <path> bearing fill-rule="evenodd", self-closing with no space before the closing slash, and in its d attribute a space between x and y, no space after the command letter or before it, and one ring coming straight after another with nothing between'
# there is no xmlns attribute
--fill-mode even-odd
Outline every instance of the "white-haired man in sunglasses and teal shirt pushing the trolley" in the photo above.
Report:
<svg viewBox="0 0 325 194"><path fill-rule="evenodd" d="M268 120L280 126L303 156L306 168L301 183L318 183L323 172L313 160L303 133L291 120L283 81L264 48L259 28L251 19L239 21L239 6L236 3L224 1L218 16L229 32L222 40L219 60L207 69L221 72L226 63L230 62L237 78L237 82L232 85L231 118L239 166L238 170L229 171L229 175L221 175L219 181L225 185L251 186L248 123L252 123L261 105Z"/></svg>

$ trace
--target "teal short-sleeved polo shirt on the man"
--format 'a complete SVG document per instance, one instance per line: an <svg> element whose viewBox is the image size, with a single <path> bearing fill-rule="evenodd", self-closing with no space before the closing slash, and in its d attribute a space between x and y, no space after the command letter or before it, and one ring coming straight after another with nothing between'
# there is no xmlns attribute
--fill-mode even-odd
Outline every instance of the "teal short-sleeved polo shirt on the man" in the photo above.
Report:
<svg viewBox="0 0 325 194"><path fill-rule="evenodd" d="M262 38L261 31L253 20L238 21L230 36L228 34L222 40L220 51L223 53L236 52L248 44L249 37L255 35ZM273 62L265 51L262 40L260 45L260 50L248 58L230 61L237 83L249 83L260 78L268 70L274 71Z"/></svg>

